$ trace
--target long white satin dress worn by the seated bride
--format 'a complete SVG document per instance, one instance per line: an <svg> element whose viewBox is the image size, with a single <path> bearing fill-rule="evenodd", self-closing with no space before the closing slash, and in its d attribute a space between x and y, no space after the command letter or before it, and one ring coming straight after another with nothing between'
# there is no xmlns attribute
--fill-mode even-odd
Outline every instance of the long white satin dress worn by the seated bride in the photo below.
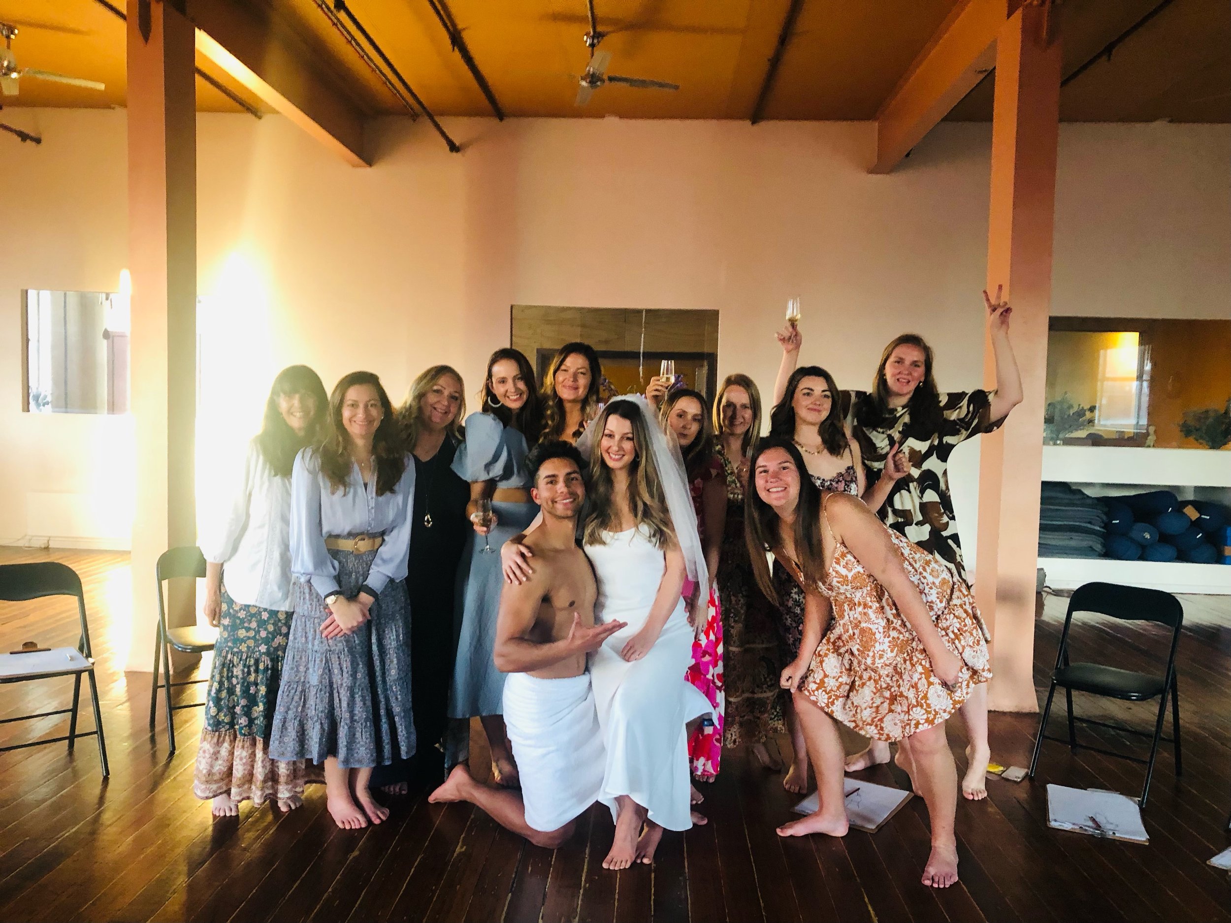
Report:
<svg viewBox="0 0 1231 923"><path fill-rule="evenodd" d="M686 678L693 629L683 599L659 640L638 661L620 650L650 615L666 572L666 555L643 525L607 533L607 544L586 545L598 577L595 620L627 621L591 655L590 678L603 731L607 768L598 800L616 817L616 797L628 795L666 829L682 831L689 818L686 722L710 713L709 701Z"/></svg>

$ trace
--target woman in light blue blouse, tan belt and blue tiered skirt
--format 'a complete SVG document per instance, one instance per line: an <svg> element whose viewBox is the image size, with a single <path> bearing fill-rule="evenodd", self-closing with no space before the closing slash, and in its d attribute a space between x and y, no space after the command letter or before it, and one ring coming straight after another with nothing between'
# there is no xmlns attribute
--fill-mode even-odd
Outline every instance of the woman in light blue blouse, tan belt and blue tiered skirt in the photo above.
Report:
<svg viewBox="0 0 1231 923"><path fill-rule="evenodd" d="M415 466L389 396L352 372L329 399L324 444L291 476L294 620L270 756L325 764L339 827L380 823L372 768L415 753L410 694L410 548Z"/></svg>

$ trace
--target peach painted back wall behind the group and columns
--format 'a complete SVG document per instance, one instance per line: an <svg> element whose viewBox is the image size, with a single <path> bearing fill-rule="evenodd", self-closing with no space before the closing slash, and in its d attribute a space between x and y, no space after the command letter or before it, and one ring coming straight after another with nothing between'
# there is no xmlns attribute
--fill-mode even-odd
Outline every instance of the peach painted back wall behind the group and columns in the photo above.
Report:
<svg viewBox="0 0 1231 923"><path fill-rule="evenodd" d="M0 246L0 540L123 546L113 485L130 464L129 422L18 412L18 293L116 287L124 113L5 116L44 143L0 138L5 224L21 229ZM256 426L282 366L307 362L326 385L371 368L400 396L448 362L473 393L508 342L512 304L716 309L719 374L768 390L772 331L800 294L805 358L840 385L865 386L906 329L936 345L942 388L980 382L987 126L942 124L889 176L863 170L868 123L448 127L460 155L426 126L380 122L377 166L355 170L282 118L199 117L207 475L212 447ZM1231 315L1229 170L1227 126L1065 126L1054 311ZM971 554L976 477L977 447L963 447ZM57 495L87 513L53 522Z"/></svg>

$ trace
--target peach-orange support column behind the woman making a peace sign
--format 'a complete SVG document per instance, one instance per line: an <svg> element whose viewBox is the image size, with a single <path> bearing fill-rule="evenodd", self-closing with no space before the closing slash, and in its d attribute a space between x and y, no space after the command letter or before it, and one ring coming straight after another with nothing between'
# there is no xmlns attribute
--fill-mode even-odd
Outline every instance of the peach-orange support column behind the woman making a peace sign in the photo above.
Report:
<svg viewBox="0 0 1231 923"><path fill-rule="evenodd" d="M1024 6L996 43L987 289L1003 286L1013 305L1025 394L1004 427L982 438L980 454L975 596L992 633L990 705L1000 711L1038 710L1034 586L1060 134L1060 39L1046 26L1046 7ZM990 342L984 378L996 380Z"/></svg>

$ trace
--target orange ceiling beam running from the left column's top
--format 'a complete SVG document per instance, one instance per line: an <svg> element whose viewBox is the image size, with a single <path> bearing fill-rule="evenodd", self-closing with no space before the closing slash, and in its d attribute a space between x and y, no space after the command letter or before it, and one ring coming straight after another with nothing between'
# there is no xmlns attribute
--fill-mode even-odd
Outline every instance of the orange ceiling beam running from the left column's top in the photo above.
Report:
<svg viewBox="0 0 1231 923"><path fill-rule="evenodd" d="M347 164L371 166L362 113L292 33L241 0L185 0L185 7L197 50Z"/></svg>

